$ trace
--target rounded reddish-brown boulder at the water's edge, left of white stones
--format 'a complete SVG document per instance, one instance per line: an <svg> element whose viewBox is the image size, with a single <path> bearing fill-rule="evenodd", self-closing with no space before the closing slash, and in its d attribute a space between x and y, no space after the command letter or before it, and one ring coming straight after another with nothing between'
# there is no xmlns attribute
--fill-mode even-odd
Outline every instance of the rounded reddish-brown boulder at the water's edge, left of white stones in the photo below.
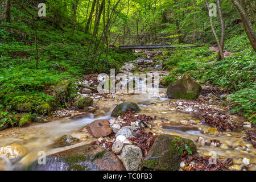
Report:
<svg viewBox="0 0 256 182"><path fill-rule="evenodd" d="M88 126L88 131L96 138L107 137L112 133L109 121L106 119L99 119L91 122Z"/></svg>

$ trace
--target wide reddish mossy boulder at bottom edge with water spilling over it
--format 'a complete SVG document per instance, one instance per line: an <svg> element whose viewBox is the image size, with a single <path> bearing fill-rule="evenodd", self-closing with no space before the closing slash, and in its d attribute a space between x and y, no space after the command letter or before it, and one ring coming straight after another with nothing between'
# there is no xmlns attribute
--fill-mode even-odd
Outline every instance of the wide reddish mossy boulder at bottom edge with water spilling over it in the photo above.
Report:
<svg viewBox="0 0 256 182"><path fill-rule="evenodd" d="M31 171L123 171L121 161L112 151L92 144L61 151L47 156L46 165L36 160L27 170Z"/></svg>

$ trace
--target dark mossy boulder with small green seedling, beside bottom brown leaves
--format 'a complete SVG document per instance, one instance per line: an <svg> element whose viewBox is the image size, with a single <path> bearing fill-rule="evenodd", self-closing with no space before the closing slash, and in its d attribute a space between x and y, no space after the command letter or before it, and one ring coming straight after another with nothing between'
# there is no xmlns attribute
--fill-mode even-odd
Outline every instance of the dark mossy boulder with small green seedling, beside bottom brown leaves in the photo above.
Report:
<svg viewBox="0 0 256 182"><path fill-rule="evenodd" d="M144 158L143 166L161 171L175 171L180 168L180 152L183 150L195 154L196 145L192 140L175 135L160 135Z"/></svg>

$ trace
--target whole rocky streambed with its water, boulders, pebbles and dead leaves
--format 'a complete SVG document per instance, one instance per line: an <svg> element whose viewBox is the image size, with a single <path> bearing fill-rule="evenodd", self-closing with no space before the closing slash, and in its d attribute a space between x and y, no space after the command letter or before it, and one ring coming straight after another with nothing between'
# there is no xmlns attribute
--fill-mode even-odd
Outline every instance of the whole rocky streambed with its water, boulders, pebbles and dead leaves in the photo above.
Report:
<svg viewBox="0 0 256 182"><path fill-rule="evenodd" d="M168 75L151 60L159 52L143 53L147 58L121 71ZM154 94L154 87L142 94L99 94L96 82L97 75L88 75L76 83L83 85L76 109L56 111L51 122L0 131L0 169L256 169L255 128L230 111L228 96L216 88L200 88L184 76L172 85L179 94L174 88ZM183 84L196 89L185 92Z"/></svg>

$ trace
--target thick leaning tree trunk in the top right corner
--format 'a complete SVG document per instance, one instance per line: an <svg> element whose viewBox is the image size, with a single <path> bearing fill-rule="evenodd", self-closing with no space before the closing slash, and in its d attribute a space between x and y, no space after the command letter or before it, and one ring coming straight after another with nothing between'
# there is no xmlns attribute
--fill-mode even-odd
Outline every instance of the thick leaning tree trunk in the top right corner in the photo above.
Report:
<svg viewBox="0 0 256 182"><path fill-rule="evenodd" d="M253 25L250 22L250 19L248 18L245 9L243 9L243 5L242 2L238 2L237 0L231 0L233 2L233 4L237 7L240 15L241 15L241 19L243 22L243 27L245 27L245 32L247 37L249 38L251 47L253 47L254 51L256 52L256 33L253 29Z"/></svg>

